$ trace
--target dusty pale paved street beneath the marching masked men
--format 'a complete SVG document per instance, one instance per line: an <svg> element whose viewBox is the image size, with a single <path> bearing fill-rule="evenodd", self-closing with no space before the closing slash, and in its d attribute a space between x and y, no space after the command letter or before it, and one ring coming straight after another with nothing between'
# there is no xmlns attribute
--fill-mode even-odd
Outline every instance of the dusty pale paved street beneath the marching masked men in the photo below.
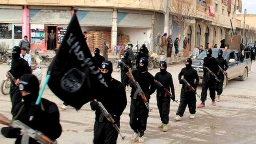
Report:
<svg viewBox="0 0 256 144"><path fill-rule="evenodd" d="M176 99L180 98L181 85L178 83L178 72L184 65L173 65L168 67L174 79ZM0 65L0 79L4 79L7 65ZM44 68L46 73L46 68ZM150 71L153 75L158 69ZM120 80L119 73L113 73L113 77ZM182 121L174 122L178 103L171 102L169 131L162 132L157 128L160 117L156 105L156 94L150 99L153 111L149 113L147 130L145 131L147 144L254 144L256 141L256 65L253 63L252 72L247 81L234 79L229 81L224 89L221 102L217 106L210 105L210 97L206 101L204 109L197 109L196 118L189 119L186 109ZM198 88L201 92L201 87ZM128 104L121 116L121 132L126 135L125 140L118 139L119 144L128 144L132 135L129 126L130 91L127 93ZM55 102L60 108L59 100L48 88L45 98ZM197 104L199 100L197 101ZM0 94L0 113L11 118L11 103L9 96ZM94 112L89 104L82 107L80 111L68 107L66 111L60 109L61 125L63 133L58 139L59 144L91 144L93 140ZM3 125L0 125L3 127ZM13 139L7 139L0 135L0 144L13 144Z"/></svg>

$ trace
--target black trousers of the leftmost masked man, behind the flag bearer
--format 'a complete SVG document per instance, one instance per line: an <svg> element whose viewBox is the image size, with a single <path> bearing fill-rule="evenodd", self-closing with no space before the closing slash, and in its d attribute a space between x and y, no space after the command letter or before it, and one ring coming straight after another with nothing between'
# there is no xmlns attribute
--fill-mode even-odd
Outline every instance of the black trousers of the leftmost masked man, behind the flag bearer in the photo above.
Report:
<svg viewBox="0 0 256 144"><path fill-rule="evenodd" d="M20 90L17 85L14 83L11 83L11 89L10 89L10 97L11 97L11 114L17 113L15 111L15 107L21 102L22 96L20 95Z"/></svg>

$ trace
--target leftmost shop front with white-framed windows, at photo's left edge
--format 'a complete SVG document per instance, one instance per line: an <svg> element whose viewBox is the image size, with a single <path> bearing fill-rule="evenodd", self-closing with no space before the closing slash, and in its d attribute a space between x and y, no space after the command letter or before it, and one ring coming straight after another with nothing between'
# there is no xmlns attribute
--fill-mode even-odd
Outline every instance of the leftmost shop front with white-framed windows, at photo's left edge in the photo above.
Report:
<svg viewBox="0 0 256 144"><path fill-rule="evenodd" d="M22 6L0 6L0 47L11 49L22 40Z"/></svg>

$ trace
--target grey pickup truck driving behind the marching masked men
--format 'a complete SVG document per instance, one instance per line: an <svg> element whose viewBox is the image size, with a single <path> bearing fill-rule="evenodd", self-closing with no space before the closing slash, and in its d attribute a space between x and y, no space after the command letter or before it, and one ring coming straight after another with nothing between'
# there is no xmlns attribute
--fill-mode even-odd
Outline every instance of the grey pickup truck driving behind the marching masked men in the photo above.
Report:
<svg viewBox="0 0 256 144"><path fill-rule="evenodd" d="M218 56L218 50L223 50L223 57L228 63L228 69L226 70L228 74L228 79L224 77L223 88L226 87L228 80L239 77L241 81L245 81L248 77L249 72L251 71L252 61L250 59L250 54L245 52L245 57L242 57L237 50L227 50L225 51L222 48L213 48L212 56ZM192 67L197 70L198 76L200 78L200 83L202 82L203 77L203 68L200 63L204 62L204 57L206 57L206 52L201 52L196 59L193 60Z"/></svg>

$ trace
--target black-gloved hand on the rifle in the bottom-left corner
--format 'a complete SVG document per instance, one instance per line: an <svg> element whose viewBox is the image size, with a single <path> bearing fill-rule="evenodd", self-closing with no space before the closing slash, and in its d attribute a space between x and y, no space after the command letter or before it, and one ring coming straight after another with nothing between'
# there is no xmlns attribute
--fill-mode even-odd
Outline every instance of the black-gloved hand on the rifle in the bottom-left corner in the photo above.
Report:
<svg viewBox="0 0 256 144"><path fill-rule="evenodd" d="M20 128L15 127L3 127L1 133L6 138L17 138L20 134Z"/></svg>

